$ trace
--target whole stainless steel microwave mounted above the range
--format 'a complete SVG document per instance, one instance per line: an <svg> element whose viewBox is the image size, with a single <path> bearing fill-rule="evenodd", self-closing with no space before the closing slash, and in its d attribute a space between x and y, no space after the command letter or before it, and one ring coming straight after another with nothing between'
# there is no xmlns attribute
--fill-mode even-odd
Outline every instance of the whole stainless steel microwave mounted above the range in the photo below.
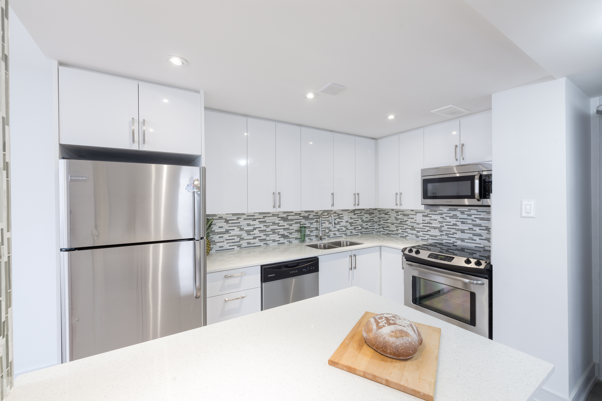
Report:
<svg viewBox="0 0 602 401"><path fill-rule="evenodd" d="M422 204L491 206L491 163L423 168Z"/></svg>

